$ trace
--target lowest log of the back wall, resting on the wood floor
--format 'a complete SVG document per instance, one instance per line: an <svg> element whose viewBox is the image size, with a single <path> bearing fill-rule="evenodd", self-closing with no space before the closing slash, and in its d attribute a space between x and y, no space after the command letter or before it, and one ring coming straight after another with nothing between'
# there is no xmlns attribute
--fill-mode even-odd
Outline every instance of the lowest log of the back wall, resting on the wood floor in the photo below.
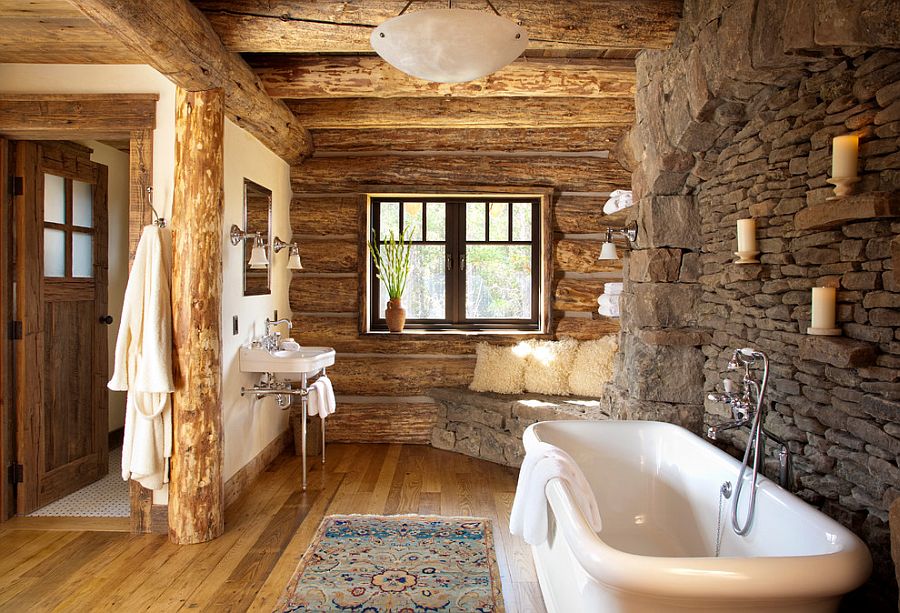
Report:
<svg viewBox="0 0 900 613"><path fill-rule="evenodd" d="M332 443L431 442L437 420L433 403L338 402L337 411L325 424L325 440Z"/></svg>

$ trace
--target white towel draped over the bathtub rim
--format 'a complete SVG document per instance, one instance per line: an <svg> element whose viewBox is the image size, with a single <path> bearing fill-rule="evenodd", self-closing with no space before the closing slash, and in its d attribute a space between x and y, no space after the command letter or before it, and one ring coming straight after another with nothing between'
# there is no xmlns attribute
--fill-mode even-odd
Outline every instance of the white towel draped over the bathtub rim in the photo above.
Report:
<svg viewBox="0 0 900 613"><path fill-rule="evenodd" d="M509 518L509 531L524 538L529 545L540 545L547 540L545 489L551 479L566 482L591 529L600 532L600 510L584 473L572 456L559 447L543 442L537 443L525 454Z"/></svg>

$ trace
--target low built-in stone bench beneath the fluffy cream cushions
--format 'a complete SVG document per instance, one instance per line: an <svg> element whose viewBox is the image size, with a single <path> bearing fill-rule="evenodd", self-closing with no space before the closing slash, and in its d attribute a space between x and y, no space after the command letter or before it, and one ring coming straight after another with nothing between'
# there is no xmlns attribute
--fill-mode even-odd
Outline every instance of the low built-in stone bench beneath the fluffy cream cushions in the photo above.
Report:
<svg viewBox="0 0 900 613"><path fill-rule="evenodd" d="M494 394L467 387L428 391L438 405L431 445L504 466L521 466L525 457L522 434L539 421L609 419L596 398Z"/></svg>

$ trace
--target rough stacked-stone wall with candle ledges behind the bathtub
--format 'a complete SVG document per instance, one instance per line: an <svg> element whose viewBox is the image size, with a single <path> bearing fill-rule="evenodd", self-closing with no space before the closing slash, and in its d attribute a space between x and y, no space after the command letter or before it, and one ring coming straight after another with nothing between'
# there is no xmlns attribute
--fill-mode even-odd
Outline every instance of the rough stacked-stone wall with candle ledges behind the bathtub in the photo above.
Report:
<svg viewBox="0 0 900 613"><path fill-rule="evenodd" d="M730 352L765 351L766 426L789 442L798 495L869 544L873 579L848 605L869 610L896 606L900 496L900 50L887 48L900 47L900 5L876 4L877 18L861 2L688 0L673 48L638 58L640 236L610 399L628 417L717 423L726 411L704 397ZM870 195L818 227L831 140L850 132ZM880 217L854 219L867 209ZM746 217L761 263L737 266ZM820 285L839 288L840 338L805 334ZM732 432L721 438L737 453L746 433Z"/></svg>

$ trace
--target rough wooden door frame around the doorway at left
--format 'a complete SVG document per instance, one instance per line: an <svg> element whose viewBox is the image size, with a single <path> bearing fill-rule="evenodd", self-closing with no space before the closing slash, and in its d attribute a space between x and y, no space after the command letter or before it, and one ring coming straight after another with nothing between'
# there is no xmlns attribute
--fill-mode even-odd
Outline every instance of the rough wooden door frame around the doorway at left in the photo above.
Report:
<svg viewBox="0 0 900 613"><path fill-rule="evenodd" d="M158 94L2 94L0 95L0 194L7 206L9 186L8 146L5 139L16 140L75 140L99 139L129 141L129 199L128 199L128 259L129 264L140 239L141 230L150 223L150 207L145 190L153 185L153 132L156 128ZM59 118L63 117L64 120ZM11 280L8 260L9 222L0 219L0 294L9 296ZM4 305L7 300L2 301ZM0 522L15 513L13 487L6 471L16 457L16 410L9 401L12 389L9 356L12 355L10 335L6 333L9 314L0 310ZM130 484L131 531L158 531L161 526L151 523L153 497L150 490L134 481ZM154 514L158 523L159 513Z"/></svg>

